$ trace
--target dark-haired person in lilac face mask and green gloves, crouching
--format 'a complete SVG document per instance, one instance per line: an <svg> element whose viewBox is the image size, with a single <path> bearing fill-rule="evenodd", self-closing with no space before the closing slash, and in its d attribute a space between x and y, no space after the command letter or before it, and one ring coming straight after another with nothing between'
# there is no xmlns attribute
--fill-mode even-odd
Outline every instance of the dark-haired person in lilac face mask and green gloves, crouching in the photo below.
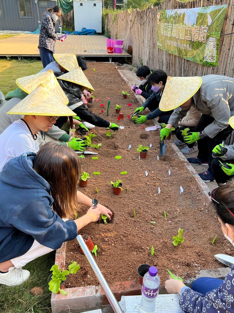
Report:
<svg viewBox="0 0 234 313"><path fill-rule="evenodd" d="M173 110L169 112L163 112L158 108L159 102L161 100L163 89L167 81L167 74L161 70L155 70L152 74L149 74L147 80L150 84L152 84L151 89L153 90L153 94L136 110L134 113L141 113L145 108L150 110L150 113L147 115L139 115L137 119L135 119L135 124L141 124L148 120L153 120L154 118L159 116L158 123L166 123L173 112Z"/></svg>

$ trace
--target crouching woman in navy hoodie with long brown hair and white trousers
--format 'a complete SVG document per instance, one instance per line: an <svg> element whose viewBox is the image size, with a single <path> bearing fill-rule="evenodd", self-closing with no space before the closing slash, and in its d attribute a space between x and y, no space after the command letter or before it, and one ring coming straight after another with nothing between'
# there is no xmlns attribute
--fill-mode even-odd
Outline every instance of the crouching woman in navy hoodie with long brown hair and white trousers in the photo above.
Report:
<svg viewBox="0 0 234 313"><path fill-rule="evenodd" d="M3 167L0 284L22 284L30 275L22 269L27 263L76 238L77 232L96 222L100 214L110 220L112 212L100 205L93 208L92 201L85 215L71 219L82 203L76 192L79 177L76 153L56 142L46 143L37 154L23 153Z"/></svg>

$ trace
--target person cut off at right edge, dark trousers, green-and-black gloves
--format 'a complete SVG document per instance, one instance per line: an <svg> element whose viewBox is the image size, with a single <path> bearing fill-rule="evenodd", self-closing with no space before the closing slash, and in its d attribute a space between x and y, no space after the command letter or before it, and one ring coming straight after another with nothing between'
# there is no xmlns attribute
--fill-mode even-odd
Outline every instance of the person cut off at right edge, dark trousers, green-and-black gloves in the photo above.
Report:
<svg viewBox="0 0 234 313"><path fill-rule="evenodd" d="M234 116L229 119L230 126L234 129ZM211 170L217 184L224 184L234 177L234 144L224 146L222 143L212 150L213 160Z"/></svg>

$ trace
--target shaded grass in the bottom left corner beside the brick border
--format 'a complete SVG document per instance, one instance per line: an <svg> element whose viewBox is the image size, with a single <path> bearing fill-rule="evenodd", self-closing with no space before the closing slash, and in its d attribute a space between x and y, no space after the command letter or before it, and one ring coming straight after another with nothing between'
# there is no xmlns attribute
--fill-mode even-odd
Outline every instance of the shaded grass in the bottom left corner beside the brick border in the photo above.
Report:
<svg viewBox="0 0 234 313"><path fill-rule="evenodd" d="M31 275L22 285L9 287L0 285L0 312L4 313L48 313L50 312L51 292L47 278L51 266L54 264L55 252L43 255L28 263L25 269ZM30 293L33 287L42 287L42 295L36 296Z"/></svg>

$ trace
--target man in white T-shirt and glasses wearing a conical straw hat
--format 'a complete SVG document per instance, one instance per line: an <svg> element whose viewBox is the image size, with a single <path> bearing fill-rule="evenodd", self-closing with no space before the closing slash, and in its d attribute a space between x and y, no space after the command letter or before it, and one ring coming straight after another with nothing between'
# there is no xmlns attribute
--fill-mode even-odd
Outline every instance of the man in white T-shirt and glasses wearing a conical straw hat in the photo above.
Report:
<svg viewBox="0 0 234 313"><path fill-rule="evenodd" d="M12 123L0 135L0 171L13 157L39 150L38 131L49 131L59 116L73 116L74 112L64 99L57 98L51 89L39 85L26 98L20 101L7 114L24 115ZM85 148L85 143L72 140L66 144L74 150Z"/></svg>

